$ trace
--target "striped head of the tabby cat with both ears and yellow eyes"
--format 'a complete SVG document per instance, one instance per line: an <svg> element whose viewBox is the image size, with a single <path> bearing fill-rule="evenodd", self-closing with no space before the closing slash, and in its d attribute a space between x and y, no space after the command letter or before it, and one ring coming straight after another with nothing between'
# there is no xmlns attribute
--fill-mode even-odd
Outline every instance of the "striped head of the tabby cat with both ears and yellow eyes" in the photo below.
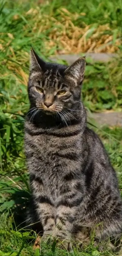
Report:
<svg viewBox="0 0 122 256"><path fill-rule="evenodd" d="M71 66L46 63L31 48L28 95L31 106L45 114L72 109L81 97L85 58Z"/></svg>

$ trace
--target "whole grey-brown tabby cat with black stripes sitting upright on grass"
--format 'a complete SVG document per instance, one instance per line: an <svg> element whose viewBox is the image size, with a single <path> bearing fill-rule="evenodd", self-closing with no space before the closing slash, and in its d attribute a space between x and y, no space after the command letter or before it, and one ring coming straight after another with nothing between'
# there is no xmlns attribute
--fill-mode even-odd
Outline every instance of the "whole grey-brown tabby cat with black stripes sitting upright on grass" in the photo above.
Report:
<svg viewBox="0 0 122 256"><path fill-rule="evenodd" d="M28 225L42 241L110 237L117 249L122 201L117 176L104 146L91 129L81 101L85 57L71 66L47 63L31 49L25 122L25 154L32 200ZM32 226L33 227L33 226ZM87 240L87 239L86 239ZM81 241L82 243L83 241Z"/></svg>

